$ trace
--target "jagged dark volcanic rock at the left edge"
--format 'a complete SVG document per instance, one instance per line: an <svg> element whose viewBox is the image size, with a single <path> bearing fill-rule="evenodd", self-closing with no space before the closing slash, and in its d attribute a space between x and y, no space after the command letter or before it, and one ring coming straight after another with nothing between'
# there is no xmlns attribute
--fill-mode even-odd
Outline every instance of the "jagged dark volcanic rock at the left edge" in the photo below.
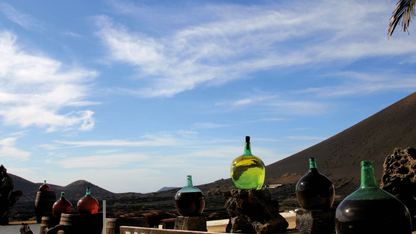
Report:
<svg viewBox="0 0 416 234"><path fill-rule="evenodd" d="M12 207L23 195L20 190L13 190L13 179L7 175L7 169L0 166L0 225L9 224L9 207Z"/></svg>

